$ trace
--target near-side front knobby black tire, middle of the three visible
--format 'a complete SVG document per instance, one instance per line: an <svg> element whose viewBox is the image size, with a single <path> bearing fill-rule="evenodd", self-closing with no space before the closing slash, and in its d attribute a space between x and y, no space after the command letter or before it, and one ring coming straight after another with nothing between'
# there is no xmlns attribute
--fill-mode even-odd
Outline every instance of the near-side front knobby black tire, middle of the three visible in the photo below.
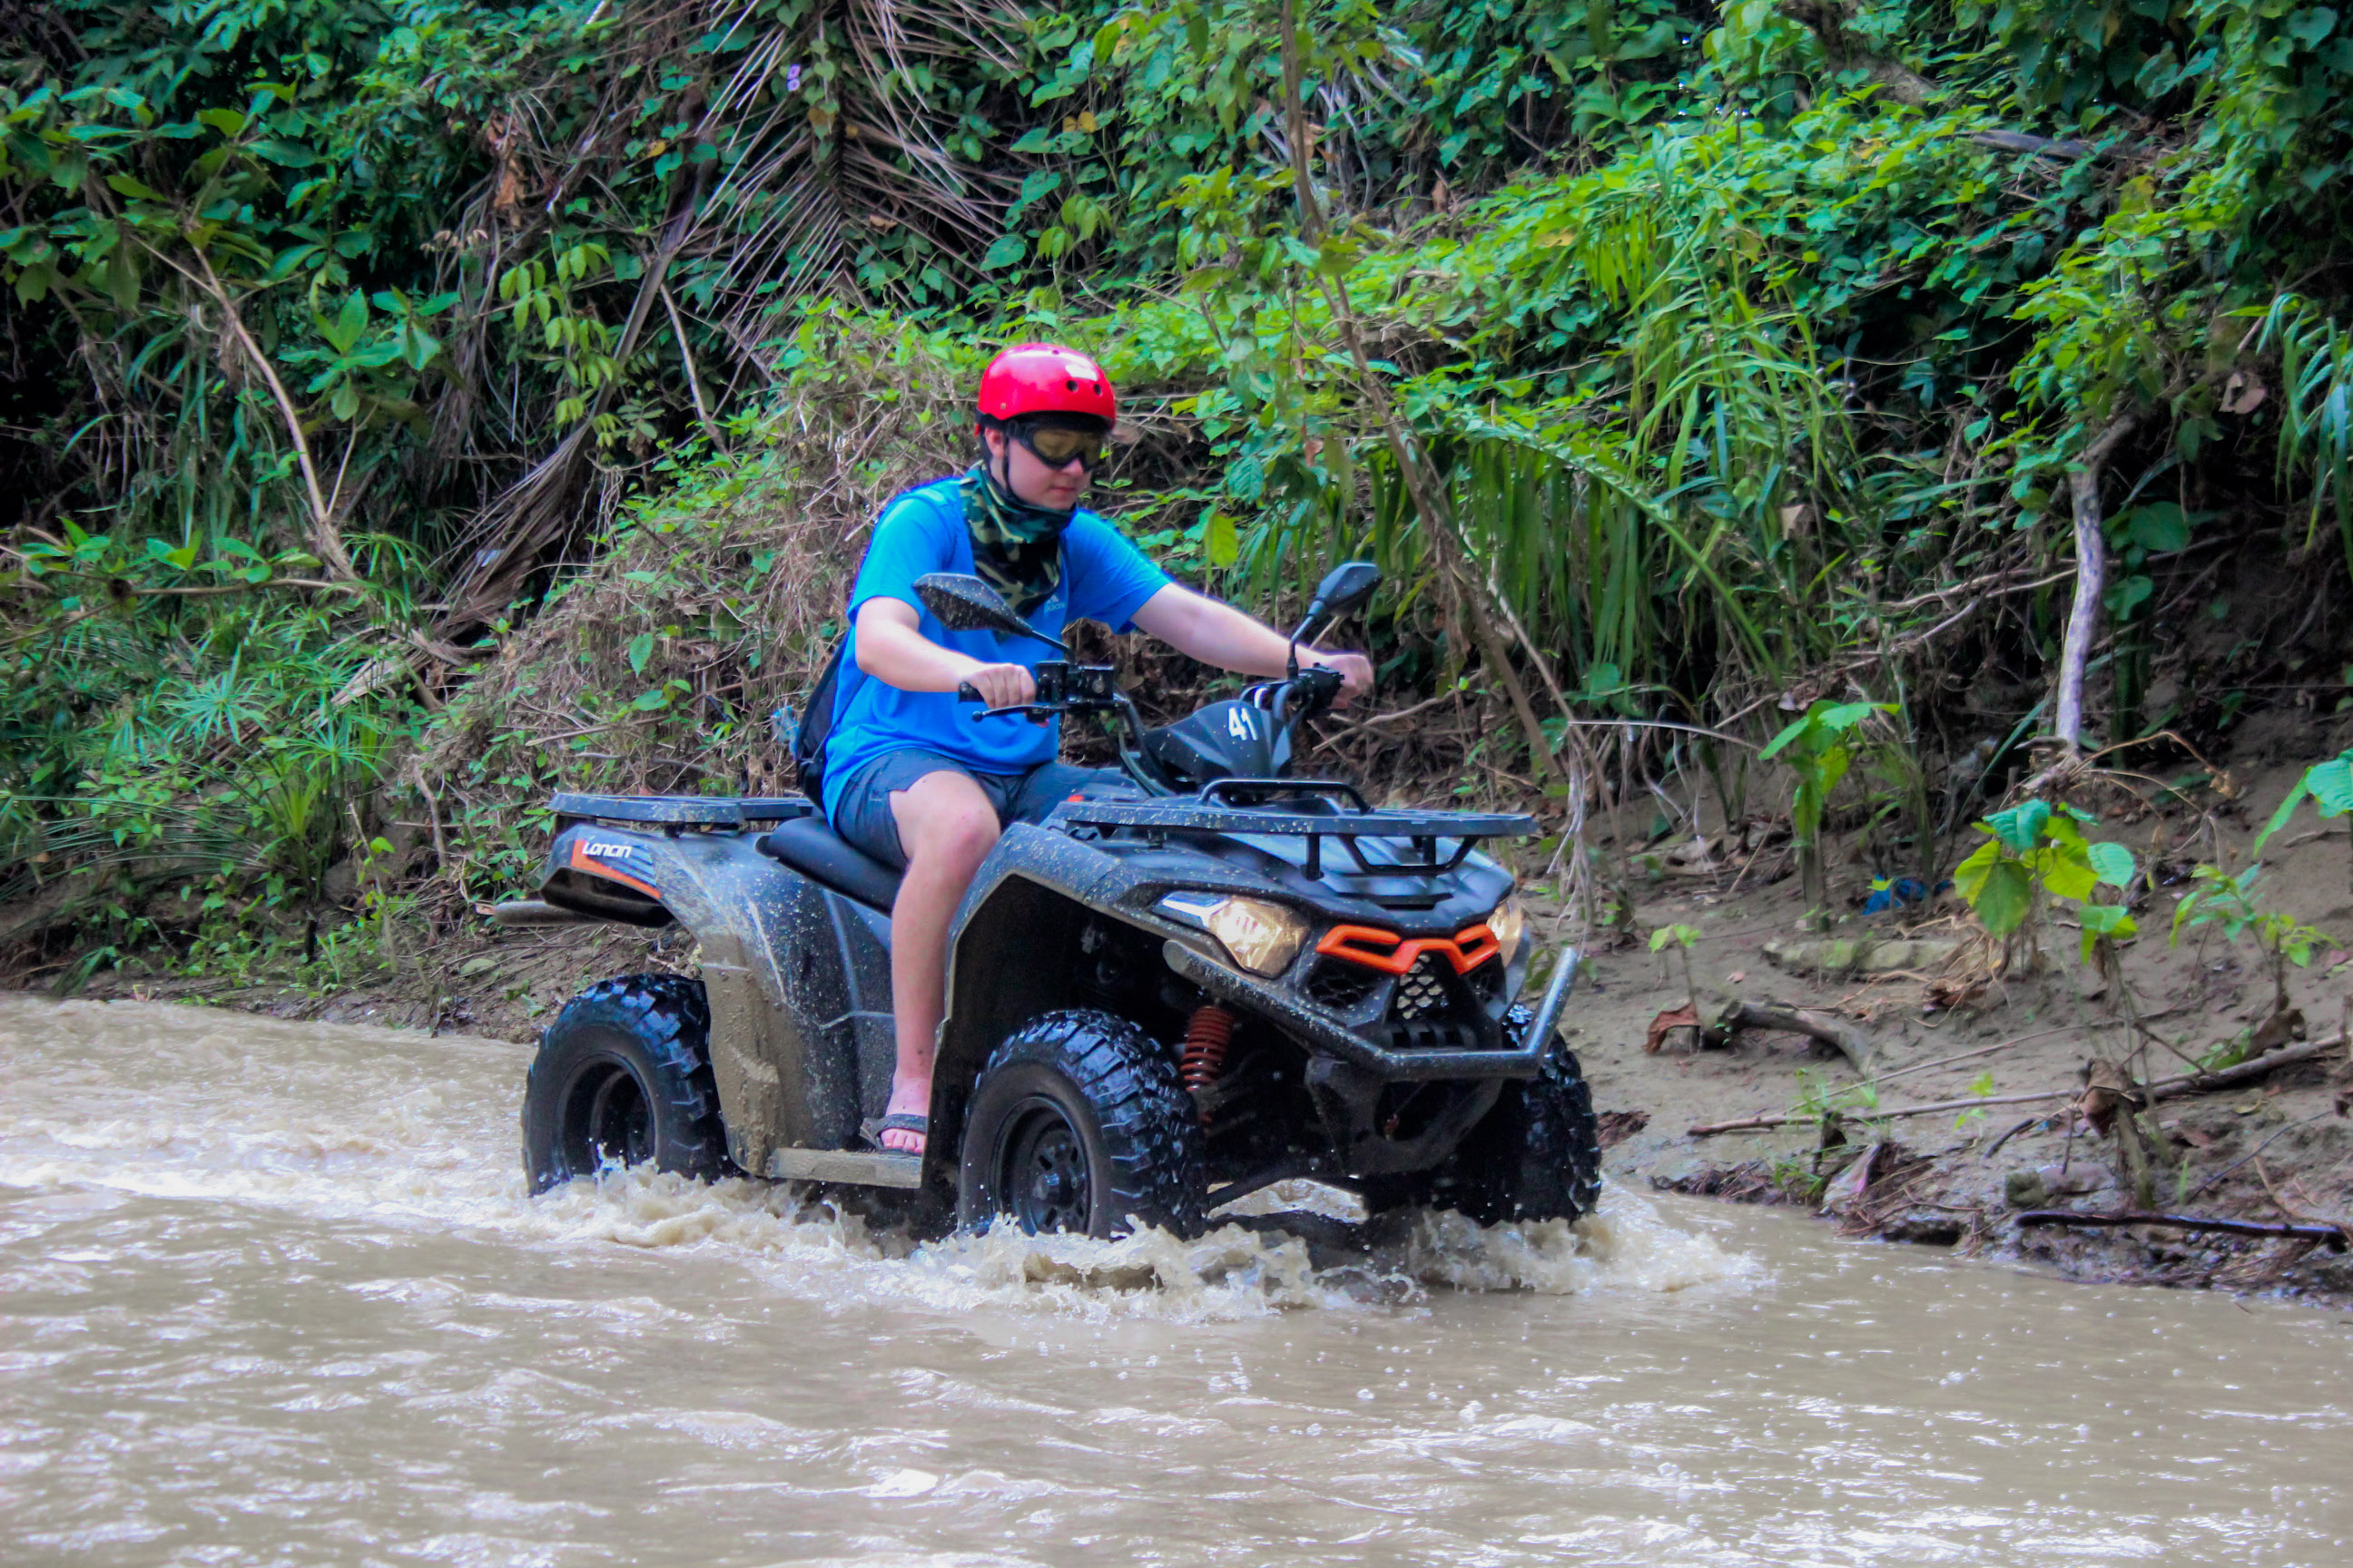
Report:
<svg viewBox="0 0 2353 1568"><path fill-rule="evenodd" d="M955 1182L962 1229L1005 1215L1028 1232L1193 1234L1205 1190L1200 1112L1176 1058L1118 1013L1040 1013L972 1086Z"/></svg>

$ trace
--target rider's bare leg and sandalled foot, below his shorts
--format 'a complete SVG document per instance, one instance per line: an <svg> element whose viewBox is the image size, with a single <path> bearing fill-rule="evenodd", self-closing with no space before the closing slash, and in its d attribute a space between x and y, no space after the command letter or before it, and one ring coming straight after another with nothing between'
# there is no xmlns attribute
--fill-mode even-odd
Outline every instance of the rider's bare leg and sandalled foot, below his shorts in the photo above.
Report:
<svg viewBox="0 0 2353 1568"><path fill-rule="evenodd" d="M998 844L998 811L965 773L925 773L889 797L906 879L889 907L889 999L899 1060L889 1110L932 1112L932 1041L948 1011L948 917ZM885 1150L922 1154L922 1133L882 1133Z"/></svg>

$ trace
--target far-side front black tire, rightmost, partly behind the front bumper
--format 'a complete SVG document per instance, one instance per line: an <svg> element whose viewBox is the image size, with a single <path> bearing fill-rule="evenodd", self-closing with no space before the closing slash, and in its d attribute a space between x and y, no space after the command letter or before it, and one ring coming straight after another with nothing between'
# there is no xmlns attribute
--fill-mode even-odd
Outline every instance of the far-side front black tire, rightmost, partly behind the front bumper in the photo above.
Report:
<svg viewBox="0 0 2353 1568"><path fill-rule="evenodd" d="M1511 1009L1506 1034L1518 1044L1532 1023ZM1593 1213L1602 1192L1602 1140L1593 1091L1560 1034L1532 1079L1513 1079L1438 1175L1435 1204L1480 1225L1574 1220Z"/></svg>

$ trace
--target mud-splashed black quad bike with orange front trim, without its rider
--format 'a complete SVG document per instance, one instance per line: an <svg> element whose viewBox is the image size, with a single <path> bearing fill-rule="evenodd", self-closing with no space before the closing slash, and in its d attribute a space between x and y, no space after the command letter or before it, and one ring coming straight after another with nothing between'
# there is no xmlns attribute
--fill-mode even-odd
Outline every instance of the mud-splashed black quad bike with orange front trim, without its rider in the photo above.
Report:
<svg viewBox="0 0 2353 1568"><path fill-rule="evenodd" d="M1108 715L1132 788L1009 827L974 877L925 1154L861 1135L892 1081L896 872L805 797L558 795L539 898L499 919L675 922L701 976L605 980L565 1006L525 1093L532 1187L612 1164L741 1171L904 1190L934 1225L1094 1237L1198 1229L1287 1178L1374 1213L1586 1213L1593 1103L1555 1032L1577 952L1520 1004L1525 917L1478 853L1534 820L1377 811L1287 776L1299 724L1339 693L1337 672L1297 668L1297 642L1377 583L1365 562L1334 569L1289 679L1162 729L1111 668L1038 665L1026 712ZM1045 639L979 578L918 592L948 628Z"/></svg>

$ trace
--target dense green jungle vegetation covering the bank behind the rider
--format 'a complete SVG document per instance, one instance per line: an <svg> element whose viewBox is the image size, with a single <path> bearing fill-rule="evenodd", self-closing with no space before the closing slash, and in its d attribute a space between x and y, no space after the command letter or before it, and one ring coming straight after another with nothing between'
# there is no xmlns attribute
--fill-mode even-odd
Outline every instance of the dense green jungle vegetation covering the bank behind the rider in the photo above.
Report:
<svg viewBox="0 0 2353 1568"><path fill-rule="evenodd" d="M2038 736L2344 698L2348 87L2297 0L0 0L0 950L332 957L558 783L784 788L1026 336L1172 569L1384 562L1355 766L1579 882L1864 703L1934 879Z"/></svg>

